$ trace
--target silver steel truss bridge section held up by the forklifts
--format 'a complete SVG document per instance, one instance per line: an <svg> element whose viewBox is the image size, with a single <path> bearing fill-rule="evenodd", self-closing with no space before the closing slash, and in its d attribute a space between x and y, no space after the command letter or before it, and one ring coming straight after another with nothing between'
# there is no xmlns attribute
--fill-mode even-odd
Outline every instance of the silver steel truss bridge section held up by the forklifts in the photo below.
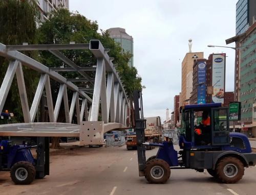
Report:
<svg viewBox="0 0 256 195"><path fill-rule="evenodd" d="M96 67L80 67L58 50L89 49L97 58ZM44 64L18 51L48 50L70 68L48 68ZM104 49L99 40L90 40L90 44L63 45L19 45L5 46L0 44L0 56L10 60L0 88L0 113L5 105L11 83L16 75L24 123L0 125L0 136L36 136L36 137L84 137L82 143L101 141L103 133L116 128L125 128L129 102L122 81L108 55L109 49ZM40 73L40 79L31 107L28 104L23 66ZM63 71L74 71L81 78L66 79L58 74ZM89 71L95 71L95 78L90 78ZM60 84L55 106L53 106L50 80ZM93 87L79 88L73 82L92 84ZM43 91L49 111L49 123L36 123L35 117ZM68 99L67 90L73 92ZM88 94L93 94L91 98ZM66 123L57 123L61 102L63 100ZM70 106L69 106L69 102ZM101 107L102 121L98 121ZM77 124L71 124L76 109ZM84 120L85 119L85 120ZM94 127L93 127L94 126ZM93 127L93 128L92 128ZM90 130L93 130L92 133ZM85 131L86 130L86 131ZM87 132L87 133L84 133ZM88 132L91 134L88 135ZM91 139L91 136L94 139ZM100 138L102 136L102 138ZM90 137L90 139L89 139ZM80 139L81 140L81 139Z"/></svg>

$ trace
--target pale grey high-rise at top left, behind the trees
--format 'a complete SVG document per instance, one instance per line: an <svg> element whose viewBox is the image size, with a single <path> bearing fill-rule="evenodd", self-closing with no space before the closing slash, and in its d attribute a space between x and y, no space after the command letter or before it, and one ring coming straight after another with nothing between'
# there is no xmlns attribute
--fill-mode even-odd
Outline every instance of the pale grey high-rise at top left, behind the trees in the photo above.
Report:
<svg viewBox="0 0 256 195"><path fill-rule="evenodd" d="M48 19L47 13L58 8L69 9L69 0L38 0L41 21Z"/></svg>

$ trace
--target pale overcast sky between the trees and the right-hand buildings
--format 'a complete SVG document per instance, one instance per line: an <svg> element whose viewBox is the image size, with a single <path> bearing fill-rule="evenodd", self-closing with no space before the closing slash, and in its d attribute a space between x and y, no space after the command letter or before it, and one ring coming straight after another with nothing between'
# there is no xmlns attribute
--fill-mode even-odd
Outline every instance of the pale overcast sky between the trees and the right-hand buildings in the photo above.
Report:
<svg viewBox="0 0 256 195"><path fill-rule="evenodd" d="M234 86L234 50L226 46L236 34L237 0L70 0L70 10L97 20L99 29L125 28L134 38L134 66L142 77L144 116L161 116L173 110L181 91L181 62L193 39L192 52L224 52L226 91ZM234 44L228 45L234 47Z"/></svg>

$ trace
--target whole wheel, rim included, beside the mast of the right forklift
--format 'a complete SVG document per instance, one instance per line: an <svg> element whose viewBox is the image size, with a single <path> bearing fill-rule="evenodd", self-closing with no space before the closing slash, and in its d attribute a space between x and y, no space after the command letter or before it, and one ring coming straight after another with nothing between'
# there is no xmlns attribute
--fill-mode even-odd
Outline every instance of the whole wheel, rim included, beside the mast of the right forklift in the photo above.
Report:
<svg viewBox="0 0 256 195"><path fill-rule="evenodd" d="M149 183L163 184L170 177L170 167L162 159L153 159L146 163L145 178Z"/></svg>

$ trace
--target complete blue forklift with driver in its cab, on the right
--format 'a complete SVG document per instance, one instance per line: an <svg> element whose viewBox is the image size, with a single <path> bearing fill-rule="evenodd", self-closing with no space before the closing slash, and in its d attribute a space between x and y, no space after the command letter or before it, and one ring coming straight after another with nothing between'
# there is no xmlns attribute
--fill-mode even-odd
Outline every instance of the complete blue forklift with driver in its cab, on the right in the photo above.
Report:
<svg viewBox="0 0 256 195"><path fill-rule="evenodd" d="M171 138L162 143L145 143L141 91L134 92L139 176L144 176L149 183L159 184L169 179L170 169L199 172L207 169L222 183L236 183L242 179L245 167L255 166L256 153L252 153L248 138L241 133L229 132L228 107L222 107L221 103L185 105L180 112L179 153ZM209 118L207 126L198 125L202 113ZM146 159L146 145L159 146L157 154Z"/></svg>

